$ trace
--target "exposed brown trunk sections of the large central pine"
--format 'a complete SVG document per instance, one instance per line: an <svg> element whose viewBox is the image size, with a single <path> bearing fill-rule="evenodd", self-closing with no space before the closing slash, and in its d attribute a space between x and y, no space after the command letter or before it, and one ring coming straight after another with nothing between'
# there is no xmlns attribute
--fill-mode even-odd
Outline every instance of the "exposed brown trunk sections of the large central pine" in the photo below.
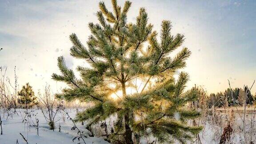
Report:
<svg viewBox="0 0 256 144"><path fill-rule="evenodd" d="M122 91L123 91L123 97L126 96L126 87L125 87L125 81L124 81L124 74L121 73L122 76ZM132 143L132 130L129 126L129 114L125 114L124 116L124 127L125 127L125 132L124 132L124 139L125 139L125 144L133 144Z"/></svg>

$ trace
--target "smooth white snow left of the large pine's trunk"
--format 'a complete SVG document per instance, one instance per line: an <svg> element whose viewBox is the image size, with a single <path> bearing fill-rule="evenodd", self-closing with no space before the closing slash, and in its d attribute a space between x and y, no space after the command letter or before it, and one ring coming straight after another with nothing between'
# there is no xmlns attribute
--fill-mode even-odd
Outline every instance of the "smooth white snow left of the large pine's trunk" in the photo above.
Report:
<svg viewBox="0 0 256 144"><path fill-rule="evenodd" d="M28 144L78 144L83 142L81 139L78 141L77 138L74 142L72 141L73 138L78 136L78 130L71 130L74 124L68 119L68 116L58 113L55 120L59 121L56 122L56 129L52 131L49 130L47 121L40 110L31 112L31 120L27 118L32 123L32 126L29 127L26 122L22 123L24 120L24 111L25 109L18 109L17 113L19 115L13 114L12 116L8 116L5 113L5 116L3 116L3 112L0 110L3 124L3 135L0 135L0 144L16 144L17 140L19 144L26 144L20 133L28 139ZM31 109L28 111L30 112ZM76 110L68 110L68 113L71 117L74 117ZM39 136L36 134L36 127L33 126L33 122L36 124L36 119L39 119ZM61 126L61 132L59 132L59 125ZM84 131L84 133L88 132L85 129L85 125L81 123L76 125L80 131ZM90 137L88 134L84 140L86 144L108 144L103 137Z"/></svg>

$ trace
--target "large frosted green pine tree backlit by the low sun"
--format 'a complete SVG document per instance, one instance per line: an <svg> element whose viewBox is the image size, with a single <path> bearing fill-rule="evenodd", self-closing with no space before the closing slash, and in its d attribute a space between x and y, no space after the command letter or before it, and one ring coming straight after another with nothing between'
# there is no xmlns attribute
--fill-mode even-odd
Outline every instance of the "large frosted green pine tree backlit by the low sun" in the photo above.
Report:
<svg viewBox="0 0 256 144"><path fill-rule="evenodd" d="M90 67L78 66L80 78L76 78L60 56L61 74L54 73L52 78L65 82L69 88L56 97L94 103L92 108L76 115L76 121L87 120L88 127L116 116L114 132L108 135L112 142L124 140L132 144L142 136L154 136L159 142L191 140L202 127L191 126L188 120L197 118L200 112L188 109L186 104L196 100L198 92L196 88L184 92L187 73L180 72L176 81L173 78L178 69L185 67L191 52L182 48L176 56L170 56L182 45L184 36L173 36L171 22L164 20L158 40L144 8L140 8L135 23L128 23L129 1L121 8L112 0L113 12L104 2L99 7L100 24L89 23L92 35L87 47L76 34L70 35L71 55L85 60ZM118 95L119 92L122 94Z"/></svg>

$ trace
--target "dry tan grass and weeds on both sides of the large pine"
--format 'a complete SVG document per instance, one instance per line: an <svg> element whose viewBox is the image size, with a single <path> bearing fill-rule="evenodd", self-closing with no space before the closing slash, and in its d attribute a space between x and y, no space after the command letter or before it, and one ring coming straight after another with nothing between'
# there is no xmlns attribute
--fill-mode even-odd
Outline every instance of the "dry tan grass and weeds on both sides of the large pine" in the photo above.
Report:
<svg viewBox="0 0 256 144"><path fill-rule="evenodd" d="M11 84L10 80L6 78L6 69L1 70L0 78L0 110L3 115L0 117L8 120L13 115L20 115L26 119L29 123L30 111L20 112L16 110L19 108L17 104L17 80L15 76L15 83ZM256 142L256 104L253 106L244 105L242 107L228 107L227 100L224 100L224 106L222 108L208 108L209 96L204 88L198 87L200 90L200 97L198 100L191 103L190 108L196 108L201 111L202 116L195 121L191 121L194 125L204 125L205 128L200 135L197 135L194 144L202 144L205 139L207 142L212 143L232 143L232 144L252 144ZM244 91L245 92L245 91ZM246 95L246 94L244 94ZM40 100L38 108L45 115L45 120L48 121L51 129L55 128L56 113L62 112L65 108L65 112L69 110L76 110L76 112L84 110L90 107L90 104L81 104L77 101L73 102L60 102L54 99L53 94L50 92L50 87L45 88L44 93L39 93L37 97ZM245 99L242 99L245 100ZM36 108L36 107L34 107ZM24 115L25 113L25 115ZM66 113L62 113L62 120L70 118ZM111 117L106 121L101 121L98 124L92 126L91 132L94 136L106 136L111 133L115 116ZM0 120L1 122L1 120ZM1 124L0 124L1 125ZM34 124L37 125L38 124ZM1 125L2 126L2 125ZM83 131L78 130L78 131ZM209 138L208 131L212 131ZM81 136L80 136L81 137ZM148 139L148 143L155 139ZM204 141L203 141L204 140ZM156 142L156 140L155 140Z"/></svg>

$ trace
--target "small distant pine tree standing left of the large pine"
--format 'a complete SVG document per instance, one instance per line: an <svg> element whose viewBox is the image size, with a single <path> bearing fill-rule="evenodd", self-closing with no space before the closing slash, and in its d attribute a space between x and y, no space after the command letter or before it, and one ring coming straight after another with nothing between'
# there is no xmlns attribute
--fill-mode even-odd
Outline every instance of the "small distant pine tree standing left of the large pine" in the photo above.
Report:
<svg viewBox="0 0 256 144"><path fill-rule="evenodd" d="M23 108L32 108L32 106L37 104L33 89L28 83L18 92L18 96L20 96L18 103L21 104Z"/></svg>

